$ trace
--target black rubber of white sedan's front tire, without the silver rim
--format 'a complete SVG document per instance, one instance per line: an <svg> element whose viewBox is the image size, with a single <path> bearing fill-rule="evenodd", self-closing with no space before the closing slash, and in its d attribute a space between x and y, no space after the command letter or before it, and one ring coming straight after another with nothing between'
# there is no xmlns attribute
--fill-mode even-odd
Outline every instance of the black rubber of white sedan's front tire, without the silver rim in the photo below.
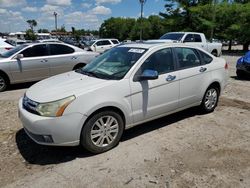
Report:
<svg viewBox="0 0 250 188"><path fill-rule="evenodd" d="M119 132L118 135L116 136L115 140L108 146L106 147L98 147L95 146L93 144L93 142L91 141L90 138L90 132L92 129L93 124L102 116L113 116L117 122L118 122L118 126L119 126ZM99 112L97 114L94 114L84 125L82 132L81 132L81 145L88 151L90 151L91 153L94 154L98 154L98 153L103 153L105 151L108 151L110 149L112 149L113 147L115 147L116 145L118 145L121 136L123 134L123 130L124 130L124 122L121 118L121 116L114 112L114 111L103 111L103 112Z"/></svg>

